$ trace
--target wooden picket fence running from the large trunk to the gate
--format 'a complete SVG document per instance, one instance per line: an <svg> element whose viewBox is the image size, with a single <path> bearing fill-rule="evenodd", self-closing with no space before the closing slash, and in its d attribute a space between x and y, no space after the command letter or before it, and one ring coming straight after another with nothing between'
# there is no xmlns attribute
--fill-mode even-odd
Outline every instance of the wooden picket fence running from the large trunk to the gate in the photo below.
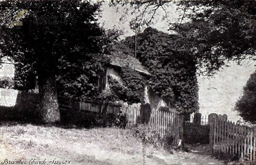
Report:
<svg viewBox="0 0 256 165"><path fill-rule="evenodd" d="M100 100L73 100L58 98L59 108L65 110L92 111L102 115L126 114L126 119L130 124L148 123L151 128L159 131L160 136L169 136L174 139L173 144L177 144L183 138L183 116L171 112L151 111L149 104L142 105L134 103L128 105L126 102L107 102Z"/></svg>

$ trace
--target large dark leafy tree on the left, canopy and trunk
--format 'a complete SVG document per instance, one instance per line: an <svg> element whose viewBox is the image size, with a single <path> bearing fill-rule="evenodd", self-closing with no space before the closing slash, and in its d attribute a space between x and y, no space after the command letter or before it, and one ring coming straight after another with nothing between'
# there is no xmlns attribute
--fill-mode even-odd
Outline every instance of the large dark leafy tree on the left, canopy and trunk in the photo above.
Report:
<svg viewBox="0 0 256 165"><path fill-rule="evenodd" d="M42 122L60 121L57 76L83 71L88 58L103 58L108 43L97 23L101 3L66 0L5 0L0 2L2 56L10 56L19 74L37 77ZM18 12L27 9L23 26L10 26ZM90 55L89 55L90 54ZM61 67L63 66L63 67Z"/></svg>

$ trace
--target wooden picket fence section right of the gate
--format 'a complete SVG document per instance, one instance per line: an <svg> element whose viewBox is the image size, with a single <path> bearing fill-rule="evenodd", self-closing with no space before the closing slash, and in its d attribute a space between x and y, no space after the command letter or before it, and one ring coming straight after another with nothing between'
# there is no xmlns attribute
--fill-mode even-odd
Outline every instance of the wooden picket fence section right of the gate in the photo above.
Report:
<svg viewBox="0 0 256 165"><path fill-rule="evenodd" d="M210 147L212 152L223 152L255 161L256 128L227 121L221 115L210 114Z"/></svg>

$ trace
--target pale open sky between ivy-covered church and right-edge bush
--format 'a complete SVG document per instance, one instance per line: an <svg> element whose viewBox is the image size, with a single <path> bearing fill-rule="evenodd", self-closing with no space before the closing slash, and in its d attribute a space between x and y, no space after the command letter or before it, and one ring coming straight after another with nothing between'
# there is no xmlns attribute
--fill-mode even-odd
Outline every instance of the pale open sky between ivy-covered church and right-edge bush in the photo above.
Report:
<svg viewBox="0 0 256 165"><path fill-rule="evenodd" d="M233 111L236 101L242 95L242 88L255 71L255 63L243 65L227 63L214 77L198 77L199 103L202 116L210 113L227 114L228 119L236 122L240 117Z"/></svg>

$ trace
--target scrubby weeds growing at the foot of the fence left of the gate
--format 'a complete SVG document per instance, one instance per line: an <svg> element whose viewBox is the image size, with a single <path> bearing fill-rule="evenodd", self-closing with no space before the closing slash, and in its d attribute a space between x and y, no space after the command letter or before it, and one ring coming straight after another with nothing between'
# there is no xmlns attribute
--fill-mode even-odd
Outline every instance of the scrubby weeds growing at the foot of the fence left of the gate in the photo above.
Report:
<svg viewBox="0 0 256 165"><path fill-rule="evenodd" d="M174 142L173 137L161 137L159 131L148 124L129 125L128 128L131 129L134 137L142 139L144 144L151 144L155 148L169 149Z"/></svg>

